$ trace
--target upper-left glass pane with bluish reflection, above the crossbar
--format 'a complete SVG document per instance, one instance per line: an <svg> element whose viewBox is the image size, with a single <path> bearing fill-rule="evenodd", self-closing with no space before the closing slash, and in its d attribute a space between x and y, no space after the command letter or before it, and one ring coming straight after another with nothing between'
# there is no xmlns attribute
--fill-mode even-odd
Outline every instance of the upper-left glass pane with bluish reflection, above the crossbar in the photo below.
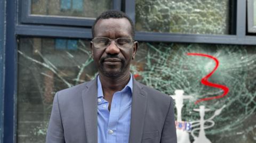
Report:
<svg viewBox="0 0 256 143"><path fill-rule="evenodd" d="M96 18L112 9L112 0L31 0L31 14Z"/></svg>

